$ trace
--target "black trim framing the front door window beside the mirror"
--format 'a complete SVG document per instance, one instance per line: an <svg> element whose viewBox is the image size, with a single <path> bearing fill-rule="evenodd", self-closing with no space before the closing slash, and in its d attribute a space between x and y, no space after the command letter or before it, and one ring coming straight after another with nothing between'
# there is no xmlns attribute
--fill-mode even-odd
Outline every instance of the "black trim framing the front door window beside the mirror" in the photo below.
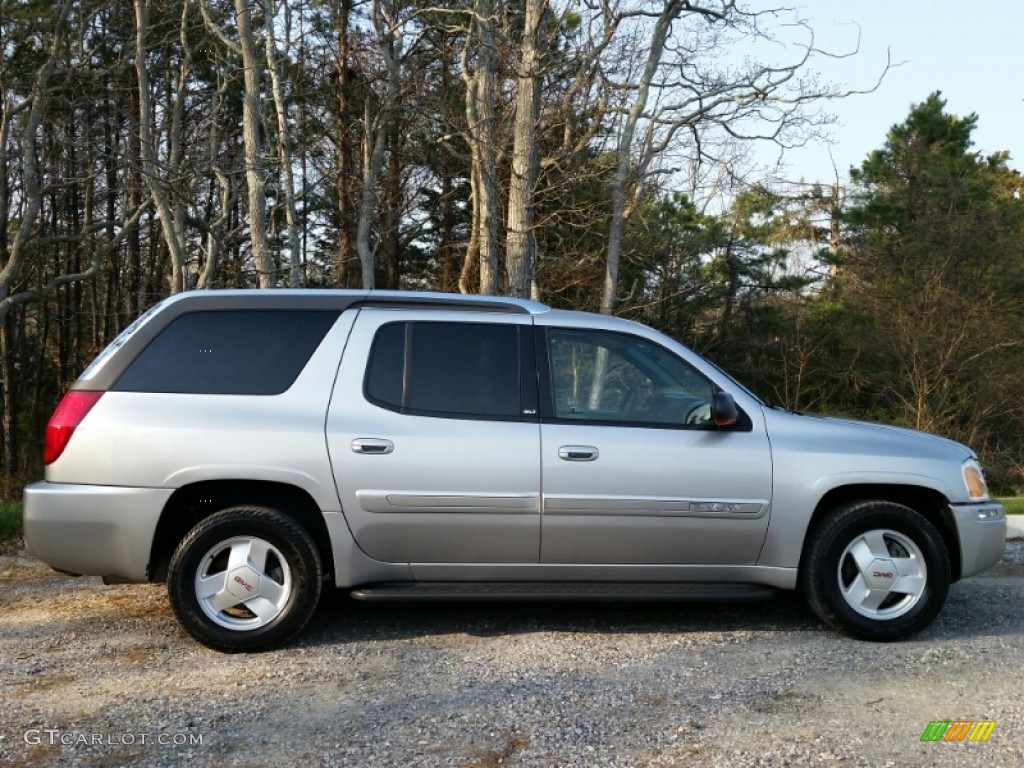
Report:
<svg viewBox="0 0 1024 768"><path fill-rule="evenodd" d="M678 430L683 432L751 432L754 430L754 422L746 412L736 403L736 410L739 412L739 418L736 423L728 427L720 427L714 422L708 424L667 424L662 422L652 421L626 421L622 419L566 419L564 417L559 417L555 411L555 389L552 383L551 377L551 346L548 342L548 332L549 331L567 331L571 333L593 333L593 334L611 334L614 336L621 336L628 339L638 339L640 341L645 341L648 344L653 344L664 351L666 354L670 354L673 357L679 359L681 362L686 365L688 368L699 376L701 379L708 382L712 388L712 396L718 392L724 391L715 381L709 379L701 371L696 369L688 360L683 359L678 354L676 354L671 349L658 344L651 339L647 339L643 336L637 336L636 334L623 333L622 331L609 331L603 328L577 328L568 326L537 326L535 329L536 344L537 348L543 350L543 354L537 355L538 362L538 380L540 382L541 391L541 402L540 402L540 414L541 423L543 424L564 424L564 425L575 425L575 426L594 426L594 427L623 427L628 429L669 429Z"/></svg>

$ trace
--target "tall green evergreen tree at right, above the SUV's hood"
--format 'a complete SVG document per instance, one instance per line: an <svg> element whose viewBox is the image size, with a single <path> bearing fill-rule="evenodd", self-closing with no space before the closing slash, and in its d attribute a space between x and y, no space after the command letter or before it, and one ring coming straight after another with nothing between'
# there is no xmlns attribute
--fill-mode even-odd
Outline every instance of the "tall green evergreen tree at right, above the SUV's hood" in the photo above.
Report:
<svg viewBox="0 0 1024 768"><path fill-rule="evenodd" d="M860 408L978 449L1024 420L1022 180L973 150L977 117L915 104L851 174L837 276Z"/></svg>

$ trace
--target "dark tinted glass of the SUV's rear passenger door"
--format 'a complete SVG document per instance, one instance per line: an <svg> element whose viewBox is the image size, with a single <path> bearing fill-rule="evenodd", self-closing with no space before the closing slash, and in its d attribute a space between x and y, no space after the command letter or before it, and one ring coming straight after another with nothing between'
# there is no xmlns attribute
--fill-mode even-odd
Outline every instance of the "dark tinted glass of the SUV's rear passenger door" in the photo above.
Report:
<svg viewBox="0 0 1024 768"><path fill-rule="evenodd" d="M438 416L519 416L519 331L471 323L392 323L374 339L367 397Z"/></svg>

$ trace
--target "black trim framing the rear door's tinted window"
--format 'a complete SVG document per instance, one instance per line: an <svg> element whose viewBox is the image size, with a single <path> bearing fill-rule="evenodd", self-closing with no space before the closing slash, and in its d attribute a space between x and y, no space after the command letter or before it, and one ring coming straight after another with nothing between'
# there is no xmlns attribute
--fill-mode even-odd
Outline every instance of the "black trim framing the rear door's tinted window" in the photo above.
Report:
<svg viewBox="0 0 1024 768"><path fill-rule="evenodd" d="M519 408L518 415L516 416L499 416L499 415L487 415L487 414L463 414L450 411L433 411L427 409L416 409L410 408L409 406L401 404L395 406L394 403L387 402L375 397L370 392L370 361L374 358L374 352L377 349L377 344L379 342L380 333L388 326L401 325L404 326L404 332L402 333L403 347L402 353L402 383L401 383L401 398L404 403L408 401L408 392L410 387L409 375L410 375L410 355L412 354L412 337L413 337L413 326L414 325L460 325L460 326L497 326L499 328L509 328L510 326L516 331L516 346L518 347L518 368L519 368ZM526 422L526 423L537 423L540 420L538 402L540 399L540 394L538 392L538 378L537 378L537 351L535 348L534 334L531 333L530 325L522 324L504 324L504 323L474 323L472 321L452 321L452 319L396 319L389 321L387 323L382 323L374 329L374 338L370 344L370 351L367 355L367 366L362 373L362 397L364 399L377 408L383 409L385 411L390 411L394 414L400 414L402 416L420 416L429 419L454 419L457 421L496 421L496 422Z"/></svg>

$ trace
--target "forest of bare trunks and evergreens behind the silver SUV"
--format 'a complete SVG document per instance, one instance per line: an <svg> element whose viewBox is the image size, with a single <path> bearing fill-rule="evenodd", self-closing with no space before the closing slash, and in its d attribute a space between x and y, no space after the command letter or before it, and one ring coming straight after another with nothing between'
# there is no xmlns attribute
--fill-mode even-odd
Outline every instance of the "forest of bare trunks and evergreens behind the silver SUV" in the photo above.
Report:
<svg viewBox="0 0 1024 768"><path fill-rule="evenodd" d="M848 182L751 161L856 55L729 0L0 0L0 496L141 311L250 287L613 312L1024 490L1022 179L978 117L922 94Z"/></svg>

